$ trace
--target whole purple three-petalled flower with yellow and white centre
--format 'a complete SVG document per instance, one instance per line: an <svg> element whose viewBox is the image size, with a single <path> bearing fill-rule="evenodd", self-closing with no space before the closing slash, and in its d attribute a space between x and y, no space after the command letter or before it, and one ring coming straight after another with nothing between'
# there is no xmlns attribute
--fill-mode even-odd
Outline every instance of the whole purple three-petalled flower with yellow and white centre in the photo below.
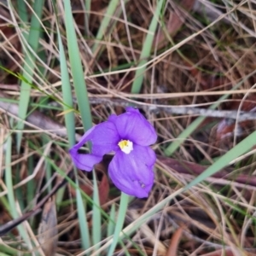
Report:
<svg viewBox="0 0 256 256"><path fill-rule="evenodd" d="M154 127L137 109L126 108L126 113L113 114L106 122L84 133L80 142L69 150L75 166L91 171L104 154L115 152L108 167L109 177L128 195L147 197L154 183ZM79 148L91 142L91 153L81 154Z"/></svg>

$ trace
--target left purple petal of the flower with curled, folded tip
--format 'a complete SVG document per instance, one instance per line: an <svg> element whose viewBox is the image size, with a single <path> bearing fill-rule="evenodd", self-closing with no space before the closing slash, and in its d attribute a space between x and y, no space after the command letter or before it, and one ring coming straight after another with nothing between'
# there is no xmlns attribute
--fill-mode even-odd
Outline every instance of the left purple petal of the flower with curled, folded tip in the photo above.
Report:
<svg viewBox="0 0 256 256"><path fill-rule="evenodd" d="M84 133L79 143L69 150L75 166L79 169L90 171L94 165L102 160L104 154L119 149L119 134L112 122L103 122L92 127ZM84 143L91 142L91 154L78 152Z"/></svg>

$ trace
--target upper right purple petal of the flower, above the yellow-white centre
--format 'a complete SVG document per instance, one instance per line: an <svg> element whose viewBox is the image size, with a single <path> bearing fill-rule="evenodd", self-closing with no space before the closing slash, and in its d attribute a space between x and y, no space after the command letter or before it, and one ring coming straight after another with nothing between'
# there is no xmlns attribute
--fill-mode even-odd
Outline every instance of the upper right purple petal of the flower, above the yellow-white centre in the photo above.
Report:
<svg viewBox="0 0 256 256"><path fill-rule="evenodd" d="M119 136L141 146L154 144L157 135L154 127L135 108L126 108L126 113L112 115L108 121L116 125Z"/></svg>

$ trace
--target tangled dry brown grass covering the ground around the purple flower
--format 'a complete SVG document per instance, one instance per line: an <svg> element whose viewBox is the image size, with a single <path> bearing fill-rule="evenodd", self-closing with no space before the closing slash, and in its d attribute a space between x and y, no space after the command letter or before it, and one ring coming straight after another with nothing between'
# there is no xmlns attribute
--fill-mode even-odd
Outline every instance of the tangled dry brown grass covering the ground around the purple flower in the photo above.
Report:
<svg viewBox="0 0 256 256"><path fill-rule="evenodd" d="M256 77L253 74L249 79L245 78L255 70L255 1L204 1L210 6L206 9L197 7L196 10L196 6L191 4L194 1L181 2L184 9L177 7L173 1L166 1L164 15L159 21L162 28L159 26L155 34L143 89L140 95L132 96L131 84L135 79L155 1L131 0L120 4L102 40L96 40L95 37L108 8L108 1L91 2L89 25L84 25L84 5L73 1L73 17L94 123L107 119L110 113L124 111L124 108L112 103L116 100L129 102L136 98L142 109L145 109L143 106L146 104L207 108L241 79L244 82L236 89L236 93L231 92L226 100L220 102L218 110L254 111ZM16 150L15 136L20 131L16 130L15 122L18 119L20 78L8 71L24 71L26 53L22 50L25 44L22 35L26 35L26 24L22 24L15 9L6 9L4 1L1 3L0 56L1 65L5 68L0 71L1 224L8 223L14 217L11 217L6 197L9 193L6 183L6 138L10 135L14 142L10 167L19 212L15 218L35 208L42 207L44 212L23 224L32 241L30 247L23 241L24 237L18 236L19 230L15 228L2 236L0 251L16 255L16 251L9 248L12 247L17 251L30 252L24 255L50 255L55 250L59 255L85 255L80 241L75 189L68 181L54 191L55 186L62 181L61 173L67 174L73 170L67 153L67 130L61 108L63 96L56 41L57 20L50 1L47 1L41 19L43 36L39 41L38 58L32 76L31 114L24 122L19 152ZM197 4L202 8L200 1ZM61 1L57 1L57 5L62 42L67 49L64 9ZM122 15L117 15L119 11ZM217 11L221 14L218 15ZM31 15L31 10L28 13ZM22 34L24 31L25 34ZM92 52L96 43L98 45ZM68 57L67 66L70 68ZM180 95L173 97L174 93ZM193 112L171 115L161 110L157 113L147 111L145 115L158 133L158 144L154 145L159 155L155 166L155 183L148 199L131 201L126 212L126 229L137 224L137 219L148 210L158 209L160 202L169 195L177 196L131 232L116 248L114 255L256 255L253 148L251 154L237 160L229 168L207 177L203 183L183 194L178 193L179 189L203 172L205 166L212 164L252 133L255 122L249 120L236 124L229 119L209 117L172 156L166 156L166 147L187 129L196 116ZM76 113L77 139L83 133L82 126L79 113ZM113 204L117 209L119 207L119 191L107 178L110 159L111 156L106 156L102 164L96 167L100 201L108 215ZM79 182L82 191L91 196L92 176L79 172ZM50 191L54 191L55 198L50 198L55 203L47 200L44 207L37 207ZM91 229L90 203L87 208L86 218ZM44 216L48 216L52 223L44 223ZM39 247L38 239L40 241L43 236L39 235L40 231L38 233L39 224L40 229L45 231L51 230L55 222L57 230L53 229L49 235L44 232L43 241L51 241L49 247L44 246L44 252L41 249L32 250ZM103 245L108 241L107 229L108 221L104 217ZM52 236L58 237L58 241L49 238ZM104 253L106 251L98 255Z"/></svg>

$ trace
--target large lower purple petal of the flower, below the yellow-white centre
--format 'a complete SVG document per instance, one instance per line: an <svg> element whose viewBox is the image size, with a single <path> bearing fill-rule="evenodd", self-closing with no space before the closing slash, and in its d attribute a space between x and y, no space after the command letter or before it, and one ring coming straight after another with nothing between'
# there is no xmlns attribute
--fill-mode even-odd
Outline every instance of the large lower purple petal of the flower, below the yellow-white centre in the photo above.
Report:
<svg viewBox="0 0 256 256"><path fill-rule="evenodd" d="M130 154L119 150L109 164L108 173L121 191L139 198L147 197L154 183L154 151L134 144Z"/></svg>

